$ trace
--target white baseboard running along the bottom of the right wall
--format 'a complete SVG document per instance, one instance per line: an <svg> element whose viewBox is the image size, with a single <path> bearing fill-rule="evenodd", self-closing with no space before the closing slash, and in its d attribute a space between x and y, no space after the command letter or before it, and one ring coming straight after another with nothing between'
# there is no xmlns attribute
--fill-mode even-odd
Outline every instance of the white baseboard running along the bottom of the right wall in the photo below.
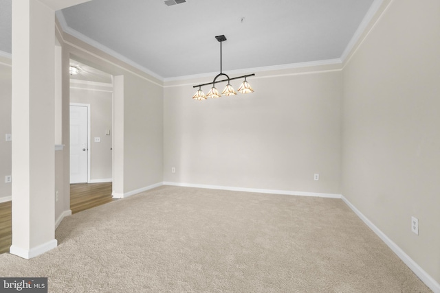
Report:
<svg viewBox="0 0 440 293"><path fill-rule="evenodd" d="M356 207L353 206L353 204L351 204L351 202L349 202L349 200L347 200L347 198L344 198L344 196L341 196L341 198L350 207L350 209L352 209L355 212L355 214L358 215L358 217L362 221L364 221L364 223L367 226L369 226L371 228L371 230L373 230L373 232L376 233L376 235L379 236L380 239L382 239L382 241L385 242L385 244L389 248L391 248L391 250L393 250L393 252L406 264L406 266L408 266L408 268L410 268L410 270L412 270L412 272L414 272L417 275L417 277L419 277L419 279L421 279L421 281L423 283L425 283L430 288L430 290L432 290L435 293L440 293L440 284L437 283L437 281L435 281L415 261L413 261L404 252L404 250L401 250L401 248L399 246L397 246L397 244L395 244L393 242L393 240L388 238L388 236L386 236L385 233L380 231L380 229L377 228L377 226L375 226L375 224L373 224L373 222L371 222L368 218L366 218L366 216L364 214L362 214L358 209L356 209Z"/></svg>

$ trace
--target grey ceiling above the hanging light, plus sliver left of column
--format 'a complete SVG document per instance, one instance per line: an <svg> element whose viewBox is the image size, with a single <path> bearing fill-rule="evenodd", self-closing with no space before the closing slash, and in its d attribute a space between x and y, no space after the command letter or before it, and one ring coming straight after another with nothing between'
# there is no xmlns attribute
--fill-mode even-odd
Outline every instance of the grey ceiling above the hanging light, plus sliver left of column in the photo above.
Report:
<svg viewBox="0 0 440 293"><path fill-rule="evenodd" d="M225 72L341 58L374 1L94 0L57 16L69 34L172 79L219 72L220 34L228 38ZM0 0L0 50L7 52L8 3Z"/></svg>

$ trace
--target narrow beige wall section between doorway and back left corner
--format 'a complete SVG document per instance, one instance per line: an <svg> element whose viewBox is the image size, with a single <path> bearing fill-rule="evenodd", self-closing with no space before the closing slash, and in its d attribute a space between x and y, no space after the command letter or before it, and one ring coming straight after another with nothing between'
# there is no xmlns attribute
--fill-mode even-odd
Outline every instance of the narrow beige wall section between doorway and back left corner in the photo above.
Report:
<svg viewBox="0 0 440 293"><path fill-rule="evenodd" d="M124 75L124 194L162 183L164 89Z"/></svg>

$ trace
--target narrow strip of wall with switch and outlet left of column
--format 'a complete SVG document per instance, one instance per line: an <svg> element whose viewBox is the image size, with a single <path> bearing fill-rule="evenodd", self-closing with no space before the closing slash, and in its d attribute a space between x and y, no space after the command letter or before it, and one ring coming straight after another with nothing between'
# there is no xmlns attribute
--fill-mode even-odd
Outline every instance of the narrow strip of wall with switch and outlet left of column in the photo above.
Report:
<svg viewBox="0 0 440 293"><path fill-rule="evenodd" d="M11 200L12 185L5 176L12 174L12 143L5 141L11 133L12 67L11 60L0 58L0 202Z"/></svg>

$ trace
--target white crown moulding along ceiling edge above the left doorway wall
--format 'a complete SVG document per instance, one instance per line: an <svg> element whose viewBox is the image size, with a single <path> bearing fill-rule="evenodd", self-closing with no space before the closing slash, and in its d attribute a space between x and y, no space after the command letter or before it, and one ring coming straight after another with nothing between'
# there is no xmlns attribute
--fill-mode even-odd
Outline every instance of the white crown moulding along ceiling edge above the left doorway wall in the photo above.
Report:
<svg viewBox="0 0 440 293"><path fill-rule="evenodd" d="M101 43L98 43L96 40L89 38L88 36L85 36L84 34L81 34L80 32L69 27L67 25L66 20L65 20L64 14L61 10L56 12L56 17L58 17L58 21L60 22L61 29L65 33L70 34L70 35L74 36L75 38L82 40L84 43L87 43L87 44L91 45L92 47L95 47L96 49L100 49L101 51L103 51L103 52L105 52L115 58L118 58L122 62L125 62L126 64L131 65L131 66L135 67L136 69L139 69L140 71L153 76L153 78L157 78L158 80L160 80L162 82L164 81L164 78L161 75L158 75L157 73L151 71L150 69L143 67L142 65L137 64L136 62L134 62L133 60L130 60L129 58L126 58L122 54L119 54L118 52L113 51L109 47L106 47L106 46L102 45Z"/></svg>

